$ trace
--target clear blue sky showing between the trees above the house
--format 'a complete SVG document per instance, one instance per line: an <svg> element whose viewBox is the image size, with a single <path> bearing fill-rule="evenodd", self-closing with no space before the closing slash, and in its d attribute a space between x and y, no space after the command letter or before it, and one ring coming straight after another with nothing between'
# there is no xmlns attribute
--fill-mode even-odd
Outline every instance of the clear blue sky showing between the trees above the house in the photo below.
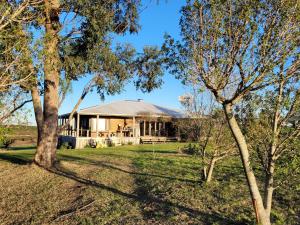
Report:
<svg viewBox="0 0 300 225"><path fill-rule="evenodd" d="M145 45L160 46L163 42L164 33L169 33L176 39L179 38L179 10L185 3L185 0L160 0L158 4L156 0L144 0L143 2L147 8L140 14L140 32L135 35L119 36L115 41L131 43L138 51L141 51ZM86 77L73 83L72 92L68 94L59 109L60 114L68 113L72 110L89 79L89 77ZM127 84L121 94L106 96L104 102L101 101L100 96L94 91L86 96L79 109L116 100L139 98L165 107L180 108L178 96L187 92L186 87L167 72L165 72L163 80L164 84L160 89L146 94L136 91L132 83ZM32 108L32 106L30 107ZM34 123L33 113L30 122Z"/></svg>

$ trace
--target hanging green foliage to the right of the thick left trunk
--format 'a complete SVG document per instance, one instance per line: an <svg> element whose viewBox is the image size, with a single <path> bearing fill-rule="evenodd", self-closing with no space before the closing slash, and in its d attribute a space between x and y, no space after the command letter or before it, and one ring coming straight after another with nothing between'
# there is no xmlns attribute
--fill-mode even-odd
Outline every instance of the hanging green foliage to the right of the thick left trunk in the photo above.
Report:
<svg viewBox="0 0 300 225"><path fill-rule="evenodd" d="M140 0L63 1L62 8L82 19L72 28L62 27L62 30L71 30L61 37L60 43L65 77L78 79L92 74L102 98L122 91L126 81L134 76L136 87L142 91L160 87L162 59L157 48L145 47L143 53L138 54L129 44L112 47L111 34L138 32L140 6Z"/></svg>

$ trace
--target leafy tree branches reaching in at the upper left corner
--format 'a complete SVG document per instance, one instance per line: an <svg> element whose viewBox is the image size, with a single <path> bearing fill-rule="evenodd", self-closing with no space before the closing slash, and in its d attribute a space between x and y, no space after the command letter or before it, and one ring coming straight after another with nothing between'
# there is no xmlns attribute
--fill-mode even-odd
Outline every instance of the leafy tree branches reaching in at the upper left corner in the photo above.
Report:
<svg viewBox="0 0 300 225"><path fill-rule="evenodd" d="M28 68L27 50L30 36L23 31L24 23L34 16L35 7L41 1L1 1L0 2L0 92L12 85L27 82L32 73Z"/></svg>

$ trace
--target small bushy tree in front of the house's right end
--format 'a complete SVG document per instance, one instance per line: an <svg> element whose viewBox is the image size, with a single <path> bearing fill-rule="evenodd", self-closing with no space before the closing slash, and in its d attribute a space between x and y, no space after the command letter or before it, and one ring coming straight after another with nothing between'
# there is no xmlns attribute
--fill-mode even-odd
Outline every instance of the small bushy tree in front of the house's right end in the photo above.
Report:
<svg viewBox="0 0 300 225"><path fill-rule="evenodd" d="M200 177L209 183L212 180L215 164L235 155L236 146L230 135L225 115L220 111L213 96L204 93L203 88L197 86L195 82L192 87L193 94L180 97L187 118L178 121L178 127L186 140L198 143L189 144L187 152L201 157L203 168Z"/></svg>

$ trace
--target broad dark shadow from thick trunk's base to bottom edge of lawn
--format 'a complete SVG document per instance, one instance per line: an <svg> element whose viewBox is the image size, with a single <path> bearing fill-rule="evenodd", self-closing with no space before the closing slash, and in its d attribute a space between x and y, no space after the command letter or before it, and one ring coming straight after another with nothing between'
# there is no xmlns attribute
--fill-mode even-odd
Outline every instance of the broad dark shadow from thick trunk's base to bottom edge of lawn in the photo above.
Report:
<svg viewBox="0 0 300 225"><path fill-rule="evenodd" d="M133 201L137 201L142 205L159 205L159 210L162 210L164 212L168 212L171 208L176 209L177 211L181 213L185 213L189 215L190 217L199 217L201 218L201 221L204 224L211 224L213 222L221 222L222 224L237 224L235 221L225 218L222 215L218 213L206 213L201 212L196 209L192 209L177 203L173 203L170 201L162 200L161 198L152 197L147 193L147 190L145 189L138 189L137 193L126 193L121 190L118 190L117 188L107 186L105 184L102 184L98 181L87 179L81 176L78 176L76 173L72 171L68 171L65 168L63 168L60 165L56 165L55 168L48 170L51 173L55 173L59 176L66 177L68 179L77 181L78 183L84 184L86 186L95 187L98 189L106 190L109 192L112 192L116 195L128 198ZM150 214L147 214L147 219L151 219Z"/></svg>

